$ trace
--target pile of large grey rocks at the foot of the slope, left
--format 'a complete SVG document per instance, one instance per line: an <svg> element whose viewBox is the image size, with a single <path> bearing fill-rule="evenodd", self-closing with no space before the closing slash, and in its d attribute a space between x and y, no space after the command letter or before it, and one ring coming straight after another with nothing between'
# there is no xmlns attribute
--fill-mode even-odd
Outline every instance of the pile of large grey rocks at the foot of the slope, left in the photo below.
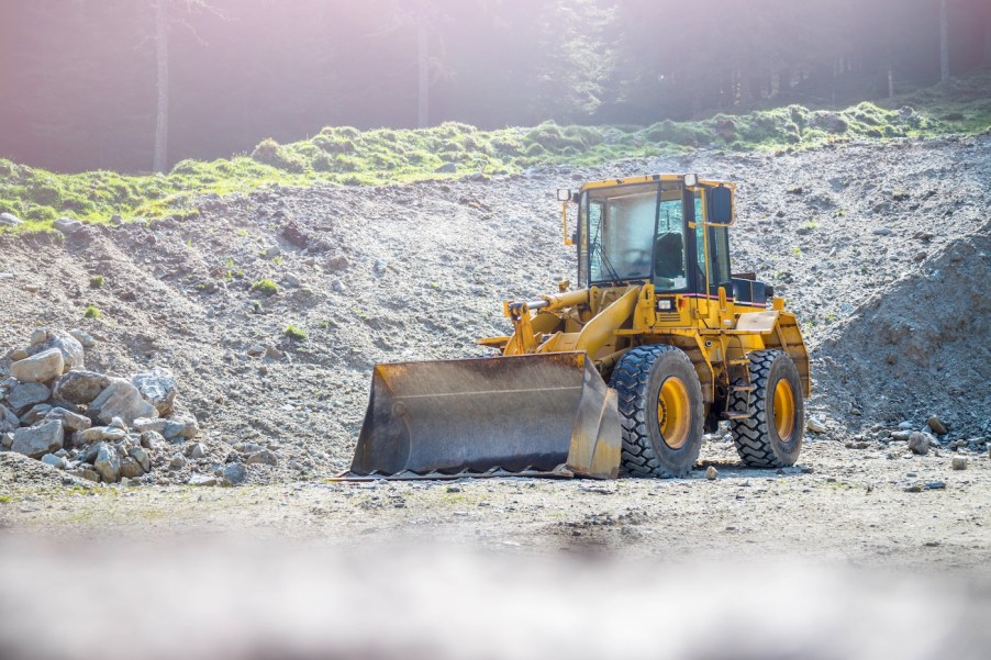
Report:
<svg viewBox="0 0 991 660"><path fill-rule="evenodd" d="M178 388L167 369L130 379L88 371L83 347L94 344L82 331L43 328L27 348L5 356L2 447L90 481L151 481L154 468L170 467L174 445L199 434L199 424L176 409Z"/></svg>

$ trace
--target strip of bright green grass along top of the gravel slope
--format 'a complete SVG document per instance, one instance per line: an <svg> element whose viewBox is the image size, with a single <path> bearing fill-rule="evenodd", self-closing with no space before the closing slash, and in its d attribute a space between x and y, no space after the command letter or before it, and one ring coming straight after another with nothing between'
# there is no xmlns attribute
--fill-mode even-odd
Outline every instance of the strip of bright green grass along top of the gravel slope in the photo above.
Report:
<svg viewBox="0 0 991 660"><path fill-rule="evenodd" d="M666 120L647 127L552 122L497 131L453 122L415 131L329 127L288 145L265 139L250 156L183 160L164 176L55 175L0 159L0 212L25 221L14 231L49 230L63 215L91 223L109 223L114 215L186 220L197 215L196 197L275 184L380 186L517 172L538 165L594 165L700 147L795 149L850 139L977 133L991 127L989 89L991 72L986 72L892 100L886 103L891 109L869 102L842 111L789 105L693 122ZM271 287L274 293L277 288Z"/></svg>

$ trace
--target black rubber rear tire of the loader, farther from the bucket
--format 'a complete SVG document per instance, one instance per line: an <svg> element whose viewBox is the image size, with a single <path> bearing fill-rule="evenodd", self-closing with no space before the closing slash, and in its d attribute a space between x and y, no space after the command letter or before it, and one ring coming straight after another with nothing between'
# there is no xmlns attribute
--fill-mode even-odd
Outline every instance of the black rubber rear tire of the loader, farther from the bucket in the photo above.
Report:
<svg viewBox="0 0 991 660"><path fill-rule="evenodd" d="M731 420L730 432L736 452L750 468L784 468L793 466L802 450L805 433L805 403L802 399L802 381L794 362L781 350L755 350L749 354L750 409L747 410L747 392L731 392L731 413L749 413L748 418ZM791 384L794 395L794 430L791 440L782 441L775 423L775 389L781 379ZM742 383L735 383L742 384Z"/></svg>

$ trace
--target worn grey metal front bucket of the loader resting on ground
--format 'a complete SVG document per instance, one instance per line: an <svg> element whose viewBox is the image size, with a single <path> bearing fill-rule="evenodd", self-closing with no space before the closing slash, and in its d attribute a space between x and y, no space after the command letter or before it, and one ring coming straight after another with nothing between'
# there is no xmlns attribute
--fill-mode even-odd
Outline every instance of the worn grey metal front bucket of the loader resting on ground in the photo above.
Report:
<svg viewBox="0 0 991 660"><path fill-rule="evenodd" d="M616 395L584 353L377 365L346 479L614 479Z"/></svg>

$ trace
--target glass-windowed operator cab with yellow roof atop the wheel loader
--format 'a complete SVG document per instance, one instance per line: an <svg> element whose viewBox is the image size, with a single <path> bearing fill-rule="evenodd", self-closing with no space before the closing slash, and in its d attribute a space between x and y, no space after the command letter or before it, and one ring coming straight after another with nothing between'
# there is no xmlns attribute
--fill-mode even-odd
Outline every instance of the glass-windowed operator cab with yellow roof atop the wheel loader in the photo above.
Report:
<svg viewBox="0 0 991 660"><path fill-rule="evenodd" d="M580 286L649 282L658 295L700 298L715 298L723 287L738 304L765 306L770 288L730 271L734 192L732 183L694 175L582 186L570 195L579 204Z"/></svg>

